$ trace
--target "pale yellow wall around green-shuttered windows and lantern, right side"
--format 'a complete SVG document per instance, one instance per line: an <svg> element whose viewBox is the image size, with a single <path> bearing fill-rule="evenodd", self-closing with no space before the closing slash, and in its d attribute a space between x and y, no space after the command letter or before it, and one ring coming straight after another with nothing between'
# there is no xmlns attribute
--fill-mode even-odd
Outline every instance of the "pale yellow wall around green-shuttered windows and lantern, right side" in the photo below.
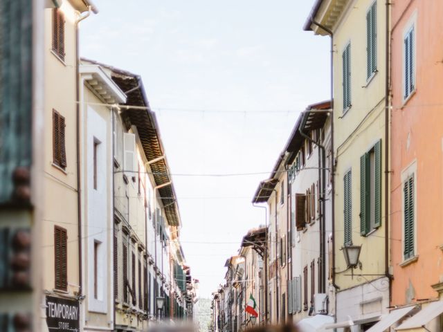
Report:
<svg viewBox="0 0 443 332"><path fill-rule="evenodd" d="M366 12L373 0L350 1L345 15L334 29L334 156L335 181L335 252L336 284L343 291L379 276L352 277L345 273L345 259L341 247L343 233L343 176L352 169L352 242L362 245L362 269L356 274L383 275L385 273L385 4L377 1L377 73L367 80ZM343 113L342 53L351 43L351 103ZM381 139L381 226L366 237L360 234L360 157Z"/></svg>

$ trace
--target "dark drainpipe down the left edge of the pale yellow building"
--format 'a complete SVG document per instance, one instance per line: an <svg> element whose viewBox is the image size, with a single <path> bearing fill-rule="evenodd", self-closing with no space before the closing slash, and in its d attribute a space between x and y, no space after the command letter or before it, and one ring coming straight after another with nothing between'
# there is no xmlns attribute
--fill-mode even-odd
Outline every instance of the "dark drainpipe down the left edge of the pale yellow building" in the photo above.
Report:
<svg viewBox="0 0 443 332"><path fill-rule="evenodd" d="M331 109L332 109L332 116L331 116L331 185L332 185L332 195L331 195L331 205L332 205L332 286L336 289L340 289L335 283L335 161L334 161L334 33L329 28L323 26L323 24L320 24L314 20L314 17L311 17L311 23L315 26L318 26L318 28L325 30L328 35L331 37L331 59L330 59L330 66L331 66L331 80L330 80L330 95L331 95Z"/></svg>

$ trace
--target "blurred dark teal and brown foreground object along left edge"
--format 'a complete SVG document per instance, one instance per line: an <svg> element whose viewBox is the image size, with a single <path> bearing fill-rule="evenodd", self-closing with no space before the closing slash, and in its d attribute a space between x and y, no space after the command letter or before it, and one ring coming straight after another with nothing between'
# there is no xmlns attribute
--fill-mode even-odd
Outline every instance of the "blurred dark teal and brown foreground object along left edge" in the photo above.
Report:
<svg viewBox="0 0 443 332"><path fill-rule="evenodd" d="M0 331L38 331L41 0L0 1ZM35 158L37 156L37 158Z"/></svg>

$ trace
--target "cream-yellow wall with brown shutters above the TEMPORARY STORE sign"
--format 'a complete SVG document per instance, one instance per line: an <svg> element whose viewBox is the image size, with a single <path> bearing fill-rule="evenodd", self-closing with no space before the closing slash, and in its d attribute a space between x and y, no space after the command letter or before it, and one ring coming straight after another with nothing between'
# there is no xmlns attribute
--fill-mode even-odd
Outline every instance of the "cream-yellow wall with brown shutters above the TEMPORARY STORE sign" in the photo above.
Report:
<svg viewBox="0 0 443 332"><path fill-rule="evenodd" d="M68 1L61 10L65 13L65 59L60 60L52 49L52 10L44 10L44 220L42 223L43 288L53 291L54 225L68 232L68 293L78 291L78 203L76 158L75 104L75 12ZM53 162L53 109L66 119L66 170Z"/></svg>

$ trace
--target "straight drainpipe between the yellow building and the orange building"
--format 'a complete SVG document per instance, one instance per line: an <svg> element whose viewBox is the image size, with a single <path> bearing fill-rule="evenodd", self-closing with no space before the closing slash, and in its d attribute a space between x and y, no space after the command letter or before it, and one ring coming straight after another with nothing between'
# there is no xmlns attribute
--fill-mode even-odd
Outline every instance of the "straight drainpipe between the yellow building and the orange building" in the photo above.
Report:
<svg viewBox="0 0 443 332"><path fill-rule="evenodd" d="M389 306L392 301L392 275L389 273L389 73L390 73L390 26L389 26L389 1L386 1L386 84L385 84L385 274L389 280Z"/></svg>

